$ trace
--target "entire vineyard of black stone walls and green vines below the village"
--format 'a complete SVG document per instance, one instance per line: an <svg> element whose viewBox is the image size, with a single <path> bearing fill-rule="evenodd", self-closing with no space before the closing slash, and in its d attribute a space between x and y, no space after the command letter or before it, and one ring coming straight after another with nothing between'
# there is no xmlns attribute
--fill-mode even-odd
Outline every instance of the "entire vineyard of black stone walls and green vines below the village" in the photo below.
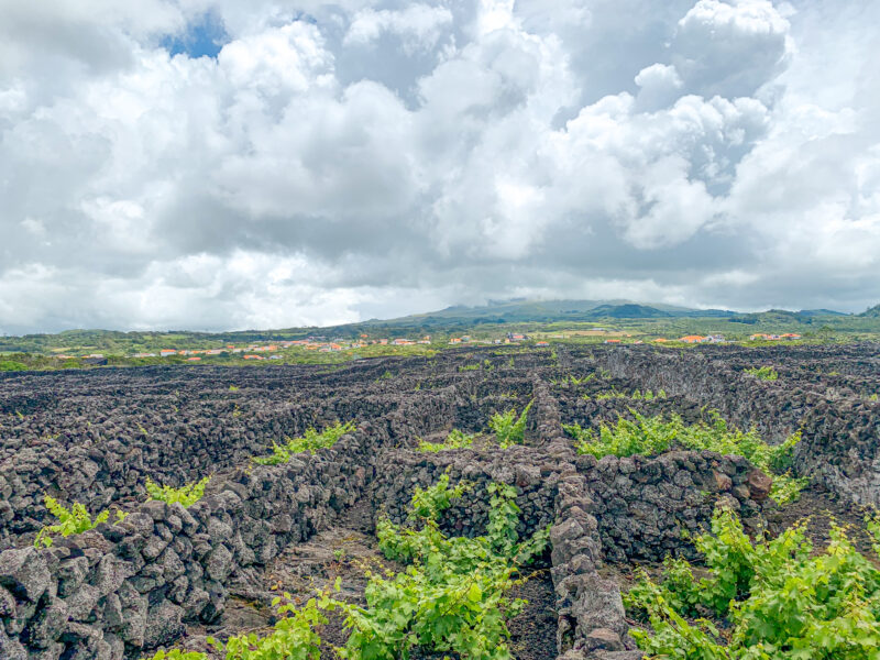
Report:
<svg viewBox="0 0 880 660"><path fill-rule="evenodd" d="M869 658L728 607L780 532L877 602L878 393L875 344L0 374L0 658Z"/></svg>

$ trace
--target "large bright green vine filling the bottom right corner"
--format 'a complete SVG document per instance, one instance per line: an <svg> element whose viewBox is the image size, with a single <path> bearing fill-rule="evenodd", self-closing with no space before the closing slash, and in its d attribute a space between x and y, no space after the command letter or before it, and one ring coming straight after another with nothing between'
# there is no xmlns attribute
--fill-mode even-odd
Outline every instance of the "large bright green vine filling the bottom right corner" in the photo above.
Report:
<svg viewBox="0 0 880 660"><path fill-rule="evenodd" d="M880 525L868 526L880 549ZM821 552L796 525L752 542L729 510L695 539L708 574L668 559L658 583L642 572L625 595L639 647L669 660L877 660L880 570L840 527ZM704 618L704 617L711 617ZM719 623L725 624L723 631Z"/></svg>

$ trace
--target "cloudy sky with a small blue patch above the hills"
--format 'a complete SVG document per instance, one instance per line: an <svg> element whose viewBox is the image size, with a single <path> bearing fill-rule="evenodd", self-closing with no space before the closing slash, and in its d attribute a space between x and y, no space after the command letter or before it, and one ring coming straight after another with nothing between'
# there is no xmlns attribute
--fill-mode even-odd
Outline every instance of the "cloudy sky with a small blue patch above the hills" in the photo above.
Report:
<svg viewBox="0 0 880 660"><path fill-rule="evenodd" d="M880 301L876 0L0 0L0 333Z"/></svg>

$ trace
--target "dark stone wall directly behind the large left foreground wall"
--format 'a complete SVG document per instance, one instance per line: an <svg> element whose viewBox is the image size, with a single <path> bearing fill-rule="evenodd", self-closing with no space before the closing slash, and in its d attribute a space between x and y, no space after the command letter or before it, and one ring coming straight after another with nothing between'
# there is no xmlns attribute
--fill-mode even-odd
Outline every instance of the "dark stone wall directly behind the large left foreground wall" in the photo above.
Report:
<svg viewBox="0 0 880 660"><path fill-rule="evenodd" d="M243 415L224 418L215 410L221 404L206 404L197 408L195 418L180 419L169 410L146 415L136 422L144 432L121 432L119 418L95 431L84 418L79 430L72 429L52 441L33 432L23 432L18 443L8 437L0 454L0 548L42 527L47 518L45 494L62 502L79 502L89 510L111 503L129 506L144 498L147 477L169 485L197 481L248 463L252 455L268 453L273 440L300 435L311 425L321 428L337 419L386 419L383 424L404 424L406 432L400 427L395 437L411 440L437 426L451 427L461 415L460 398L454 388L444 388L323 404L288 403L264 406L246 421ZM211 417L212 413L218 414ZM226 413L231 413L231 407ZM476 406L475 415L485 411ZM485 417L480 424L485 425Z"/></svg>

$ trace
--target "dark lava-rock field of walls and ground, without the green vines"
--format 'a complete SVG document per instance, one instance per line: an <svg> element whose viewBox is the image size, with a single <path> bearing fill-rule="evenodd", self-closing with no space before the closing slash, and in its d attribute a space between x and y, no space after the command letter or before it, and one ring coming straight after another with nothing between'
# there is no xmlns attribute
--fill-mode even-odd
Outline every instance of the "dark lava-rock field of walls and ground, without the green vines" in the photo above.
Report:
<svg viewBox="0 0 880 660"><path fill-rule="evenodd" d="M766 365L777 380L746 371ZM272 597L307 598L337 576L358 602L366 566L399 569L376 551L376 517L399 519L416 485L449 471L476 484L449 512L450 532L481 531L490 481L517 487L521 531L553 526L547 565L518 594L529 606L510 626L515 656L636 658L620 585L636 564L689 556L681 531L703 529L719 498L754 529L809 516L817 544L834 520L849 524L867 549L862 507L880 503L879 366L870 344L558 345L334 370L0 374L0 657L120 660L180 640L198 647L206 635L267 629ZM662 396L646 398L649 389ZM499 450L490 417L529 402L525 444ZM630 410L694 421L706 408L771 441L800 430L794 471L811 479L801 501L772 505L741 459L673 451L597 462L578 457L562 431ZM280 466L250 461L336 420L355 420L358 431L332 450ZM453 428L482 436L469 449L416 451ZM147 477L182 485L211 474L189 509L143 504ZM131 513L36 551L45 494ZM342 622L322 636L343 644Z"/></svg>

